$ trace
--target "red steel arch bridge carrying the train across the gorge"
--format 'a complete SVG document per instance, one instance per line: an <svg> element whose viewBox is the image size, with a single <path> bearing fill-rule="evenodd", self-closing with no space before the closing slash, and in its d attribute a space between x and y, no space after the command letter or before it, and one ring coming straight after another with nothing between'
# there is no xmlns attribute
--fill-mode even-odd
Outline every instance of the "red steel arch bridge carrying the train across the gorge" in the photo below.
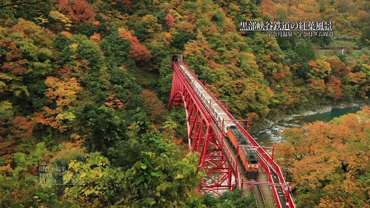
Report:
<svg viewBox="0 0 370 208"><path fill-rule="evenodd" d="M180 58L174 56L172 65L174 72L168 108L171 109L174 106L185 107L189 148L191 152L199 152L198 166L206 172L206 176L200 181L199 189L219 194L222 190L233 190L236 187L243 188L243 184L249 185L245 190L250 189L255 184L268 185L277 208L283 206L285 208L295 208L290 194L290 183L284 180L282 171L273 161L273 154L270 155L248 134L248 124L245 129L242 122L235 120L227 110L227 103L224 107L221 104L223 101L217 100L205 87L206 83L199 81ZM199 93L196 93L197 90L208 93L210 98L208 97L208 100L202 98ZM227 122L234 122L255 149L260 160L260 168L268 178L267 182L240 180L237 155L235 155L235 149L231 149L235 147L228 145L226 138L226 121L220 121L219 117L216 118L213 113L210 113L211 105L221 109L222 114L230 118ZM240 171L243 172L243 170Z"/></svg>

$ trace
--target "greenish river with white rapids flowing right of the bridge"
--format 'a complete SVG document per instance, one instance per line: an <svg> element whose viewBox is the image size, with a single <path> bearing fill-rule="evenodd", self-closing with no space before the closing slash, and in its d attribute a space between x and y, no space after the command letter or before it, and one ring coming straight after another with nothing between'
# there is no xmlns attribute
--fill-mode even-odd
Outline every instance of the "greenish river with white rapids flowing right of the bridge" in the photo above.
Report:
<svg viewBox="0 0 370 208"><path fill-rule="evenodd" d="M314 121L329 122L334 117L339 117L347 113L356 113L361 110L359 107L354 108L334 108L327 113L318 113L313 115L301 115L277 122L273 127L252 134L252 137L260 146L271 147L273 144L285 142L286 139L281 136L285 127L302 127L305 123ZM253 126L252 126L253 128Z"/></svg>

